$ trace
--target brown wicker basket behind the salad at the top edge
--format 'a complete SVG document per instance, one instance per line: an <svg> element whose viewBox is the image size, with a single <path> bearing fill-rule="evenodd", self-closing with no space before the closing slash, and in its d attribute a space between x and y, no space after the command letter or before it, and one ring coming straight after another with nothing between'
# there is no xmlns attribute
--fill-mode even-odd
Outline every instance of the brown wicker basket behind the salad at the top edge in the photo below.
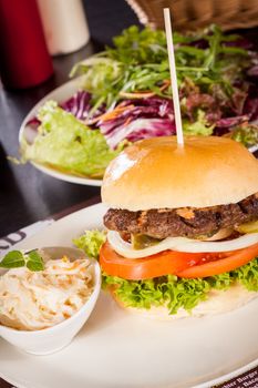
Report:
<svg viewBox="0 0 258 388"><path fill-rule="evenodd" d="M258 25L258 0L126 0L143 24L164 28L168 7L176 30L196 30L210 23L224 30Z"/></svg>

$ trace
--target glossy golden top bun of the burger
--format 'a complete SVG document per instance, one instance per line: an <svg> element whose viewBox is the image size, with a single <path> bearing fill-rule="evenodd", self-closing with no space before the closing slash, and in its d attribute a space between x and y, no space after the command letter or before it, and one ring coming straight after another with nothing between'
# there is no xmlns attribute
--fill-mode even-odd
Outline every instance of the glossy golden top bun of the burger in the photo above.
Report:
<svg viewBox="0 0 258 388"><path fill-rule="evenodd" d="M102 201L128 211L208 207L237 203L258 192L258 161L226 137L143 140L106 169Z"/></svg>

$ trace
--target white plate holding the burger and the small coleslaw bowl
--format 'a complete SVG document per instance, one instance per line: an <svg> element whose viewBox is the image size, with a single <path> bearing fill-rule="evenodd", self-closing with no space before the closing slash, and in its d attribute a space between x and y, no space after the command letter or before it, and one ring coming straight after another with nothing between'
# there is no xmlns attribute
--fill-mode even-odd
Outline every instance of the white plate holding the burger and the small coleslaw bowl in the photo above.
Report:
<svg viewBox="0 0 258 388"><path fill-rule="evenodd" d="M68 245L101 228L94 205L19 244L31 249ZM127 313L105 293L73 343L51 356L31 356L0 340L0 376L19 388L211 387L258 365L258 300L235 312L175 321Z"/></svg>

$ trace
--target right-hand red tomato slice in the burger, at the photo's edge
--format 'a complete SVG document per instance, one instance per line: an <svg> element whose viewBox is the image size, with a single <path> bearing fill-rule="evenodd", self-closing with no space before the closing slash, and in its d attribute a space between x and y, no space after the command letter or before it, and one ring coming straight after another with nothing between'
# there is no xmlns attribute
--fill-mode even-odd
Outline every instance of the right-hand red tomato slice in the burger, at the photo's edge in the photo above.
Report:
<svg viewBox="0 0 258 388"><path fill-rule="evenodd" d="M207 277L239 268L258 255L258 244L239 251L207 255L207 259L203 263L200 261L199 265L186 268L176 275L186 278Z"/></svg>

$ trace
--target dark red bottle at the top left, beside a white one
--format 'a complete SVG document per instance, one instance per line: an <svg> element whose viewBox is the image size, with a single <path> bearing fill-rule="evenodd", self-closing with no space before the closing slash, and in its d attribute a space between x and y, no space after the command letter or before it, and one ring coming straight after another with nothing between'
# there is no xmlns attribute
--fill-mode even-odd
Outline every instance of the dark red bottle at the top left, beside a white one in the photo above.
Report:
<svg viewBox="0 0 258 388"><path fill-rule="evenodd" d="M0 0L0 76L4 86L34 86L52 73L35 0Z"/></svg>

